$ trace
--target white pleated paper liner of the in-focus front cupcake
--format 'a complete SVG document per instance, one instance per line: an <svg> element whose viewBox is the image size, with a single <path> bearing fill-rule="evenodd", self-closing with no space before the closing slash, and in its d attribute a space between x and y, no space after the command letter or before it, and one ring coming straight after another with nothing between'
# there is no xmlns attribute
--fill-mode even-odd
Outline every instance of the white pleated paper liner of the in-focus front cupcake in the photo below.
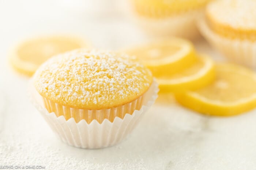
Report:
<svg viewBox="0 0 256 170"><path fill-rule="evenodd" d="M104 119L99 123L93 119L87 123L85 119L76 123L74 118L66 120L64 115L56 116L44 107L44 100L30 83L30 98L33 105L45 118L54 133L65 143L84 149L98 149L109 147L121 142L142 118L142 115L157 99L158 84L153 81L148 91L143 95L142 105L132 114L124 114L123 119L116 116L113 122ZM131 104L132 106L132 104ZM95 112L93 112L95 113Z"/></svg>

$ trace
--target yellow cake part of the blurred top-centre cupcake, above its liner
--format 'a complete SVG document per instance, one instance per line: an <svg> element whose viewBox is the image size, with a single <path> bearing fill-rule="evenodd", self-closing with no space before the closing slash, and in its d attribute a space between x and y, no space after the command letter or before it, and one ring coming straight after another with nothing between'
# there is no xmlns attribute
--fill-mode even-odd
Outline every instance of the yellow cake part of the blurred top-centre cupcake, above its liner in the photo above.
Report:
<svg viewBox="0 0 256 170"><path fill-rule="evenodd" d="M168 17L180 12L204 7L210 0L131 0L142 16Z"/></svg>

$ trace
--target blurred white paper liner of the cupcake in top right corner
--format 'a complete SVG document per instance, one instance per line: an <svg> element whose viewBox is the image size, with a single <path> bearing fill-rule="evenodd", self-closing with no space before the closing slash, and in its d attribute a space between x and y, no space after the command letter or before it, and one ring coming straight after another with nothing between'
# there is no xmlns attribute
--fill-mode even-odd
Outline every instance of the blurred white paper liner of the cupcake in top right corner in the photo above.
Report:
<svg viewBox="0 0 256 170"><path fill-rule="evenodd" d="M198 27L206 40L227 59L256 68L256 42L229 39L218 35L211 30L204 18L198 22Z"/></svg>

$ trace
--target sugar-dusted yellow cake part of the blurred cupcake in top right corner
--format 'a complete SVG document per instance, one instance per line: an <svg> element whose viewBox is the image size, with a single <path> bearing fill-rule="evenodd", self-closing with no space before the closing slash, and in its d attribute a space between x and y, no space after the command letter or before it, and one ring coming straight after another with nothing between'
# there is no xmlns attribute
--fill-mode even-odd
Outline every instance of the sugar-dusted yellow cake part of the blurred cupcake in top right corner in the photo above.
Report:
<svg viewBox="0 0 256 170"><path fill-rule="evenodd" d="M217 0L207 5L211 28L226 37L255 39L255 0Z"/></svg>

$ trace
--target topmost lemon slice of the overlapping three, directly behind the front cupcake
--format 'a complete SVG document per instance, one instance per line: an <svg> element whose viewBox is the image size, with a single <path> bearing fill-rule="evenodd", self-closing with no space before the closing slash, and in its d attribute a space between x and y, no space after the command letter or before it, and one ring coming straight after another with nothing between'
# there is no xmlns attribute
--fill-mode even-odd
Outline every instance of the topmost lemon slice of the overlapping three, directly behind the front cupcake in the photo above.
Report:
<svg viewBox="0 0 256 170"><path fill-rule="evenodd" d="M144 44L124 52L136 56L154 76L184 70L196 60L192 43L176 38Z"/></svg>

